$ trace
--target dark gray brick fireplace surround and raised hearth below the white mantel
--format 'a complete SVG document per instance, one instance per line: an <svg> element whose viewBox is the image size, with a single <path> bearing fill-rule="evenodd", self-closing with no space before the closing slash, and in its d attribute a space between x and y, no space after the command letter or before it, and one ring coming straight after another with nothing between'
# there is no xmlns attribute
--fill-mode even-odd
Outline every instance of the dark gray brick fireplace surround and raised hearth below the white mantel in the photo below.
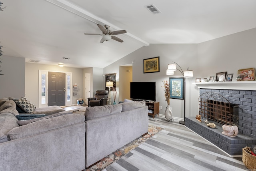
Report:
<svg viewBox="0 0 256 171"><path fill-rule="evenodd" d="M206 86L210 85L206 84ZM217 87L217 84L213 86ZM202 94L206 97L201 96ZM200 96L198 101L202 122L196 120L195 117L198 113L195 113L194 117L185 118L186 127L204 137L230 156L241 156L242 148L256 144L255 90L210 89L210 87L207 87L200 88ZM206 118L208 121L215 123L216 128L207 127L204 124ZM223 124L238 126L238 135L236 137L223 135Z"/></svg>

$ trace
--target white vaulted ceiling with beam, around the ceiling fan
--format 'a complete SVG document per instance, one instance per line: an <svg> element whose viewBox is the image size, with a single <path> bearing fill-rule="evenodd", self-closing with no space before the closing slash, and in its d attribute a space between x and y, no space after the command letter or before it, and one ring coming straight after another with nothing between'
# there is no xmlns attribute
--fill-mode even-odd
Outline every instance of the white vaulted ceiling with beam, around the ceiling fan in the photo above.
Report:
<svg viewBox="0 0 256 171"><path fill-rule="evenodd" d="M104 68L149 44L197 44L256 28L256 0L0 1L3 55L76 68ZM124 42L84 35L102 33L96 24L126 30L116 35Z"/></svg>

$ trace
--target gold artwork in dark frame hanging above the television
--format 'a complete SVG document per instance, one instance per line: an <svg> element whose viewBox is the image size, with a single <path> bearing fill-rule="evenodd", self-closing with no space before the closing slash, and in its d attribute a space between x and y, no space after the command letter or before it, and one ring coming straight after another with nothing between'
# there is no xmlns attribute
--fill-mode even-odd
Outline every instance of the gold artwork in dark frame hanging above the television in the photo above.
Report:
<svg viewBox="0 0 256 171"><path fill-rule="evenodd" d="M144 73L160 72L159 56L155 58L148 58L143 60Z"/></svg>

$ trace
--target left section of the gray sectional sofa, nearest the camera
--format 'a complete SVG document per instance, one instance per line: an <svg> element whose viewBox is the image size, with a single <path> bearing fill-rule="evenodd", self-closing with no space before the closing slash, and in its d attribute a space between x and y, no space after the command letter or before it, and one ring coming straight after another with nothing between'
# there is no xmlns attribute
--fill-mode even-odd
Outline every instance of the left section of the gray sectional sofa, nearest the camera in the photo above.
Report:
<svg viewBox="0 0 256 171"><path fill-rule="evenodd" d="M0 171L85 168L84 115L67 112L23 126L18 125L16 115L16 103L0 99Z"/></svg>

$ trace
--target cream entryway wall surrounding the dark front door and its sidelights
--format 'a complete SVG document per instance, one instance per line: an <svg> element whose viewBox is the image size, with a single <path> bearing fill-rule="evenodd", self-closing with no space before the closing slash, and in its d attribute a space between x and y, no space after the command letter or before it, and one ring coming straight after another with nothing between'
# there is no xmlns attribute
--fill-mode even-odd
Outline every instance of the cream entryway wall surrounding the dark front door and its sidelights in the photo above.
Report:
<svg viewBox="0 0 256 171"><path fill-rule="evenodd" d="M26 63L25 70L25 93L26 98L38 106L38 81L39 70L56 71L56 72L72 72L73 85L76 83L79 87L78 96L73 96L72 104L76 104L78 98L83 98L83 69L59 67L52 65ZM73 86L72 86L73 87Z"/></svg>

